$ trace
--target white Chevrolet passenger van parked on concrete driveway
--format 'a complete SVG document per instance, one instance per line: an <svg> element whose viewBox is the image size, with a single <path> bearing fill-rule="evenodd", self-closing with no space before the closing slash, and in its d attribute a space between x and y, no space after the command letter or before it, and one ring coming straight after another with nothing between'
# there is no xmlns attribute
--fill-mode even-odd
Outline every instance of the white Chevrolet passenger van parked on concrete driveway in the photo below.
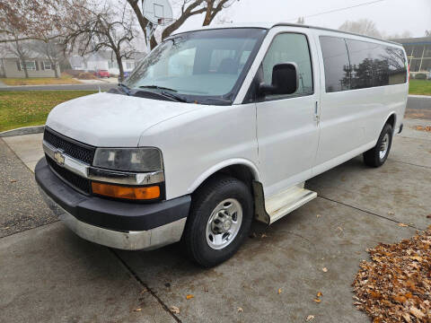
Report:
<svg viewBox="0 0 431 323"><path fill-rule="evenodd" d="M303 25L178 33L118 88L53 109L35 176L82 238L117 249L182 240L215 266L253 218L274 223L316 197L305 180L360 153L386 161L406 62L400 44Z"/></svg>

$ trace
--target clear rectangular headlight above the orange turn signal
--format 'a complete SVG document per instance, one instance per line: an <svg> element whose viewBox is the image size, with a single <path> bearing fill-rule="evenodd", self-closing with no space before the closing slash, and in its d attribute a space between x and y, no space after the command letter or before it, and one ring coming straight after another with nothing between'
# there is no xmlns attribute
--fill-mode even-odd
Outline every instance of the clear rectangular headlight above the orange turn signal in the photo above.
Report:
<svg viewBox="0 0 431 323"><path fill-rule="evenodd" d="M162 153L157 148L97 148L92 163L110 170L163 170Z"/></svg>

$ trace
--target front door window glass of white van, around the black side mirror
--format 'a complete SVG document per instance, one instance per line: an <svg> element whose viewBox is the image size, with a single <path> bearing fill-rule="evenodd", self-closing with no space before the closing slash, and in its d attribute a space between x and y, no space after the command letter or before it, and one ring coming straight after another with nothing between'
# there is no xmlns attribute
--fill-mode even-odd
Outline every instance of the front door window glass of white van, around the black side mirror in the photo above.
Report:
<svg viewBox="0 0 431 323"><path fill-rule="evenodd" d="M312 94L312 62L307 38L302 34L284 33L279 34L272 41L267 55L263 59L263 78L266 84L272 82L272 69L280 63L296 63L298 66L299 86L293 94ZM267 99L274 99L279 95L268 95Z"/></svg>

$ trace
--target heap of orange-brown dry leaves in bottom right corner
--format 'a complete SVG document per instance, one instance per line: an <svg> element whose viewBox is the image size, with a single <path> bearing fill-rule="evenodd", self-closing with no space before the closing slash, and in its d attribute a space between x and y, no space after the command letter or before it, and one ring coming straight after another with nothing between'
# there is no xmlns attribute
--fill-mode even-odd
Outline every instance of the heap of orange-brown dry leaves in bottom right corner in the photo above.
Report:
<svg viewBox="0 0 431 323"><path fill-rule="evenodd" d="M396 244L367 250L353 283L356 308L377 322L431 323L431 226Z"/></svg>

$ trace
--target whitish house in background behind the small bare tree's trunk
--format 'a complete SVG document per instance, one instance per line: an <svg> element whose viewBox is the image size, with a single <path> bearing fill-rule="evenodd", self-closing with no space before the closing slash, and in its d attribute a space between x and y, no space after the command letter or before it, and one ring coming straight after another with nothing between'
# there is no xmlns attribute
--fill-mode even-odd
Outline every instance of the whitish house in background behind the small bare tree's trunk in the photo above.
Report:
<svg viewBox="0 0 431 323"><path fill-rule="evenodd" d="M135 68L137 62L139 62L143 57L145 57L145 53L136 52L130 58L123 58L124 72L131 72ZM114 52L111 50L100 50L84 57L77 55L71 56L69 58L69 63L72 66L72 69L75 70L107 70L111 75L119 74L119 65L117 64Z"/></svg>

